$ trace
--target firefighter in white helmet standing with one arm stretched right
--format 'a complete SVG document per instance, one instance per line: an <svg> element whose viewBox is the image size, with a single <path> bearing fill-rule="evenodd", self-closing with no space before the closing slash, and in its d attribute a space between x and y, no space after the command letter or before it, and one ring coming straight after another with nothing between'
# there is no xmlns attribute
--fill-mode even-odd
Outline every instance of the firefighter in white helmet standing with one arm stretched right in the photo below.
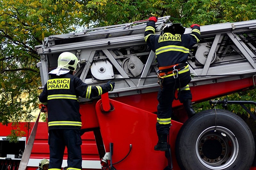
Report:
<svg viewBox="0 0 256 170"><path fill-rule="evenodd" d="M50 164L49 170L61 170L65 147L68 149L68 168L82 169L82 126L78 97L90 99L113 91L115 83L100 86L85 84L74 76L78 59L70 52L61 53L58 67L52 70L51 78L39 96L48 109Z"/></svg>

